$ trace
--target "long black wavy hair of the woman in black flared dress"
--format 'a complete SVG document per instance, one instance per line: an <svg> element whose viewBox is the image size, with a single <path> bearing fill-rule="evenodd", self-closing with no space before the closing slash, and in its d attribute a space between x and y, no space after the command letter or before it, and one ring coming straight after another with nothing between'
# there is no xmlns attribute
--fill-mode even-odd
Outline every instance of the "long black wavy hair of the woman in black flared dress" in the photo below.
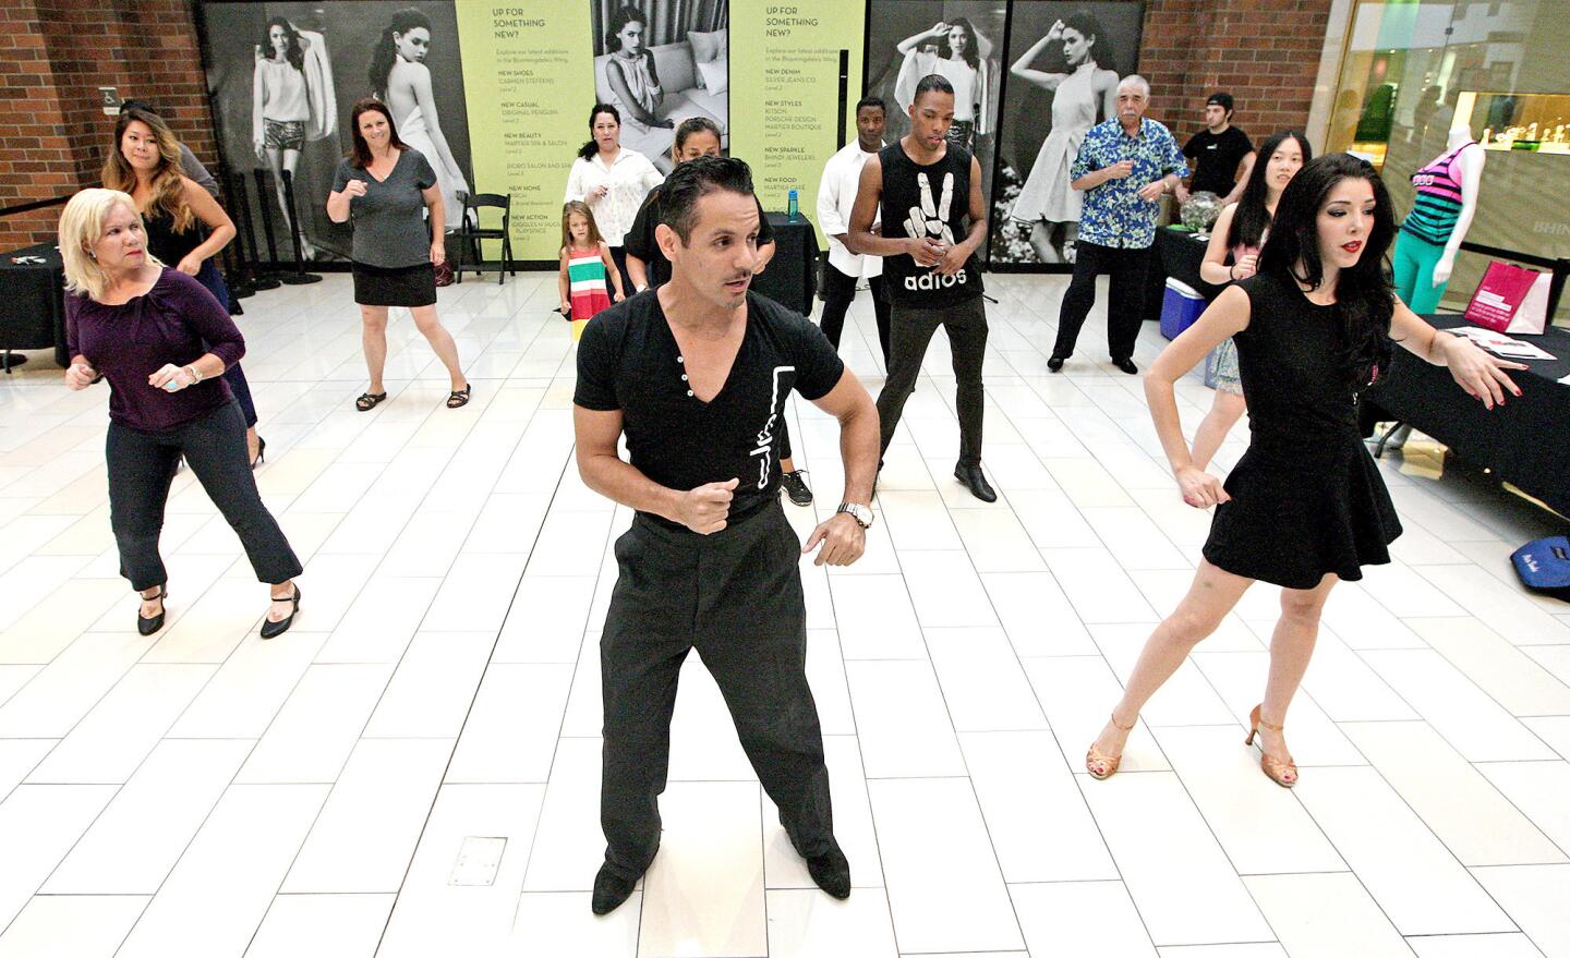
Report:
<svg viewBox="0 0 1570 958"><path fill-rule="evenodd" d="M1259 251L1259 272L1294 289L1298 283L1309 289L1325 283L1325 265L1319 258L1319 210L1330 190L1344 179L1364 179L1374 188L1374 223L1363 237L1363 254L1336 276L1336 305L1347 341L1347 386L1356 394L1389 369L1389 317L1396 309L1396 294L1385 273L1385 254L1396 240L1396 217L1385 181L1374 166L1350 154L1333 152L1298 170L1276 203L1270 237Z"/></svg>

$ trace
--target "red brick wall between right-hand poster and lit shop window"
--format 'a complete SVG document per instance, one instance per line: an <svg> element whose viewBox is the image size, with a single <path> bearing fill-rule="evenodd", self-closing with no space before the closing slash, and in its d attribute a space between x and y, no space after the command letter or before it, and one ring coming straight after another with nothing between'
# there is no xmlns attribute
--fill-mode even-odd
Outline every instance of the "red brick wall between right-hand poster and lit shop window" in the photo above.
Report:
<svg viewBox="0 0 1570 958"><path fill-rule="evenodd" d="M1199 132L1204 97L1225 90L1258 143L1308 126L1330 0L1148 0L1140 72L1149 116L1179 143ZM1319 146L1319 144L1316 144Z"/></svg>

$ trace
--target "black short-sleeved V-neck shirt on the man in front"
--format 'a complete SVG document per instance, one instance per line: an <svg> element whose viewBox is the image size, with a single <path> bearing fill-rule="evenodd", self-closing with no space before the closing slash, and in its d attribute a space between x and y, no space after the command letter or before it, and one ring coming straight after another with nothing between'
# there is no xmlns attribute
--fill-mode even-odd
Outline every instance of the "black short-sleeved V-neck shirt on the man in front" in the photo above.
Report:
<svg viewBox="0 0 1570 958"><path fill-rule="evenodd" d="M730 515L779 495L779 440L791 389L821 399L845 363L799 313L747 294L747 330L725 385L710 402L692 394L659 294L644 291L593 317L578 344L573 402L622 410L633 466L666 488L739 479ZM666 525L667 520L659 521Z"/></svg>

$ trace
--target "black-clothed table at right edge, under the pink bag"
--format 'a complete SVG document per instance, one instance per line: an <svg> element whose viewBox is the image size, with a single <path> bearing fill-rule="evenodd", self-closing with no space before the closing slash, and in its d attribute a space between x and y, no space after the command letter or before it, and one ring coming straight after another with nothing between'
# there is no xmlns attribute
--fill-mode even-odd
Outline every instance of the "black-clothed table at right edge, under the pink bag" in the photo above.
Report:
<svg viewBox="0 0 1570 958"><path fill-rule="evenodd" d="M1466 325L1457 314L1424 316L1441 330ZM1364 396L1363 435L1380 421L1400 421L1444 443L1466 462L1570 515L1570 330L1550 327L1542 336L1518 339L1553 353L1553 360L1521 360L1531 369L1510 372L1521 396L1506 396L1488 410L1462 391L1451 371L1396 347L1389 375Z"/></svg>

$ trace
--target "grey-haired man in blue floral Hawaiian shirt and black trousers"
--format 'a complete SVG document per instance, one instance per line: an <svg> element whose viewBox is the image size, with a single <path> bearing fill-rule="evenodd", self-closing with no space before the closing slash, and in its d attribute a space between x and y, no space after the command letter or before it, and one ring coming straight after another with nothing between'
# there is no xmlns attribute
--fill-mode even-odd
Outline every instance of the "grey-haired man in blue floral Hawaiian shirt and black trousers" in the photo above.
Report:
<svg viewBox="0 0 1570 958"><path fill-rule="evenodd" d="M1069 166L1071 184L1085 193L1075 243L1074 280L1058 311L1058 341L1047 367L1063 369L1074 355L1085 314L1096 305L1096 275L1110 275L1107 349L1112 364L1137 374L1130 358L1145 314L1145 270L1162 193L1171 193L1188 163L1162 124L1145 119L1151 85L1140 75L1118 83L1118 116L1085 133Z"/></svg>

